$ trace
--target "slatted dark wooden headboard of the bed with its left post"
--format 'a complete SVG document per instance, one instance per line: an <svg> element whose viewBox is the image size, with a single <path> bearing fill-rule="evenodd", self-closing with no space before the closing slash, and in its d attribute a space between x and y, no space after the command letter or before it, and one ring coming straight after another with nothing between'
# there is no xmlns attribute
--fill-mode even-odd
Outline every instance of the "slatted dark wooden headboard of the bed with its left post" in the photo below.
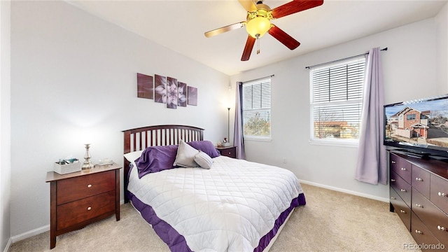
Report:
<svg viewBox="0 0 448 252"><path fill-rule="evenodd" d="M167 146L179 144L179 141L202 141L204 140L204 129L199 127L185 125L158 125L139 127L132 130L124 130L125 135L124 151L130 153L132 151L141 151L149 146ZM124 159L124 186L125 203L129 202L127 198L127 183L130 170L130 162Z"/></svg>

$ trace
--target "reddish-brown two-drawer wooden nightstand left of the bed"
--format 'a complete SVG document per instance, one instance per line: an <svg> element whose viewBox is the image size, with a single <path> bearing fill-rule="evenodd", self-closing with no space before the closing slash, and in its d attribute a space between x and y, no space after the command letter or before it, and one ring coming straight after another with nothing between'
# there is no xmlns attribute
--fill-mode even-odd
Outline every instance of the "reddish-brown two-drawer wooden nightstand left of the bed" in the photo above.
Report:
<svg viewBox="0 0 448 252"><path fill-rule="evenodd" d="M120 221L121 168L113 163L64 175L47 173L46 182L50 182L50 249L56 246L58 235L113 214Z"/></svg>

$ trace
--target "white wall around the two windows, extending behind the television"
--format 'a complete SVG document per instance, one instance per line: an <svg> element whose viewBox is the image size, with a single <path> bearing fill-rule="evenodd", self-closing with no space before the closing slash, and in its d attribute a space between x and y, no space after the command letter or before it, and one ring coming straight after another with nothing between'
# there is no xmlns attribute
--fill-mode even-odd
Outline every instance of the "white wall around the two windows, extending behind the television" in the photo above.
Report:
<svg viewBox="0 0 448 252"><path fill-rule="evenodd" d="M357 148L309 144L309 70L305 66L387 47L381 52L386 104L430 97L448 89L446 81L436 74L436 36L435 20L428 19L232 76L231 82L235 83L275 75L272 141L245 141L247 159L285 167L308 183L388 200L388 186L354 179ZM441 46L446 48L446 41Z"/></svg>

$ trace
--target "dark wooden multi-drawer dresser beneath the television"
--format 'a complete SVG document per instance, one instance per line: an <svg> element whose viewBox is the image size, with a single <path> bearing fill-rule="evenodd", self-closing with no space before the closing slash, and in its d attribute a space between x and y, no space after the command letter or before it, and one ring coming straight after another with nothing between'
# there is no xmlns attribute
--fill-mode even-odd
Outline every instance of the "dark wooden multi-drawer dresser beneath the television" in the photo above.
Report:
<svg viewBox="0 0 448 252"><path fill-rule="evenodd" d="M448 251L448 163L389 152L390 207L422 251Z"/></svg>

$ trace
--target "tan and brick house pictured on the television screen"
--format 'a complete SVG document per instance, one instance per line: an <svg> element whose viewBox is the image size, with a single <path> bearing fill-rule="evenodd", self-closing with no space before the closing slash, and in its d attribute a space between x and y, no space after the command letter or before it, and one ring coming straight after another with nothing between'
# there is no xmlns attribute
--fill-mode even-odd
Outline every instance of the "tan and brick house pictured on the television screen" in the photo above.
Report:
<svg viewBox="0 0 448 252"><path fill-rule="evenodd" d="M430 111L418 111L410 107L402 109L388 119L391 130L395 130L395 135L408 139L419 137L428 138Z"/></svg>

